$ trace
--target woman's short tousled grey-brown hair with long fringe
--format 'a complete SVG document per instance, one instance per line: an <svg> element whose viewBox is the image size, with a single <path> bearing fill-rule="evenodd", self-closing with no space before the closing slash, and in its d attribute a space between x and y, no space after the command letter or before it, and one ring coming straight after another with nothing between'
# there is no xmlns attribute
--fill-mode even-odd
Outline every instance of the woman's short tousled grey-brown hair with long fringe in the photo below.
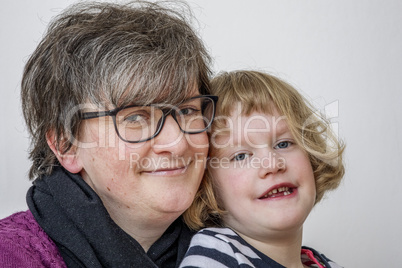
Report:
<svg viewBox="0 0 402 268"><path fill-rule="evenodd" d="M209 93L211 59L183 2L79 3L52 20L22 78L22 110L31 135L29 177L50 174L67 152L80 119L78 105L176 104L194 87ZM65 120L71 119L69 129Z"/></svg>

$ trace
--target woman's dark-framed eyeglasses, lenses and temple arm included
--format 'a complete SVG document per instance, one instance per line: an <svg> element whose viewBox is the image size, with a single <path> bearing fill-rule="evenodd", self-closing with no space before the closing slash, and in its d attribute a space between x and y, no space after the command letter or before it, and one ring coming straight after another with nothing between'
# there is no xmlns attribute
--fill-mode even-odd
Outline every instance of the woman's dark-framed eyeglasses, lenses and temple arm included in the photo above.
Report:
<svg viewBox="0 0 402 268"><path fill-rule="evenodd" d="M120 139L138 143L155 138L162 130L167 116L172 115L185 134L206 131L215 117L217 96L196 96L177 106L150 104L130 105L110 111L82 113L82 120L103 116L113 118L114 127Z"/></svg>

